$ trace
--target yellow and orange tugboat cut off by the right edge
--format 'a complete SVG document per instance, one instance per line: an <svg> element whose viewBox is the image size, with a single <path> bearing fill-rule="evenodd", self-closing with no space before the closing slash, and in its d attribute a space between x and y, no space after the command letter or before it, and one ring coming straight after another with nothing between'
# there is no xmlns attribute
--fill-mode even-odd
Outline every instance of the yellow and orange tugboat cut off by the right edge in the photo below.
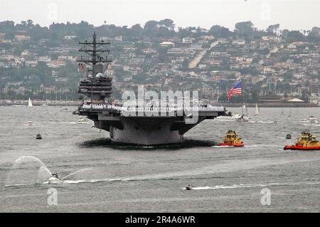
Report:
<svg viewBox="0 0 320 227"><path fill-rule="evenodd" d="M320 150L320 142L316 139L314 134L311 134L310 132L302 132L296 144L287 145L284 149Z"/></svg>

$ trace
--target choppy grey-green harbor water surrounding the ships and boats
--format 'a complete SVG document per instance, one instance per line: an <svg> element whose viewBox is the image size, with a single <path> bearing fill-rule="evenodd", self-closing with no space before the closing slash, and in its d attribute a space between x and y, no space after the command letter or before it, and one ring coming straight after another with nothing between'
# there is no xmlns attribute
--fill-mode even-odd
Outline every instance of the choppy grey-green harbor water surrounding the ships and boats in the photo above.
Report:
<svg viewBox="0 0 320 227"><path fill-rule="evenodd" d="M78 124L73 107L64 108L0 107L1 212L320 211L320 151L283 150L302 130L320 138L320 123L306 121L320 120L319 108L292 108L290 118L289 108L260 108L261 118L244 123L205 120L174 147L112 144L108 132ZM245 147L216 147L227 130ZM64 182L48 184L46 168ZM50 189L57 205L48 204Z"/></svg>

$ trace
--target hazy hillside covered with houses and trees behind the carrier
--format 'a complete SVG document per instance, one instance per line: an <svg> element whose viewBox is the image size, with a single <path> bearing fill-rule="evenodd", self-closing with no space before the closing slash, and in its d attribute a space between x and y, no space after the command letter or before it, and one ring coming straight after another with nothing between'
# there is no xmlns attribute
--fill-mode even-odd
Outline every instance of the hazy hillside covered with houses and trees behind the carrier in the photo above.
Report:
<svg viewBox="0 0 320 227"><path fill-rule="evenodd" d="M78 100L78 42L96 31L110 41L114 97L124 90L198 90L201 98L226 102L235 81L247 102L294 98L319 103L320 28L309 31L259 30L250 21L223 26L176 28L174 21L114 26L33 21L0 22L0 99ZM235 97L231 102L241 102Z"/></svg>

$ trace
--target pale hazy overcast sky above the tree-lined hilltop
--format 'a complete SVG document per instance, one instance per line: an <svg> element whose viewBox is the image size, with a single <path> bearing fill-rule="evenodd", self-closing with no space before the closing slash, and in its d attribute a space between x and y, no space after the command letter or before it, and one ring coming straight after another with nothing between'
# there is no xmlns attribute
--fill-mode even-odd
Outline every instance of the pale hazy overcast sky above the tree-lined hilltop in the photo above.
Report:
<svg viewBox="0 0 320 227"><path fill-rule="evenodd" d="M142 26L149 20L173 19L176 26L210 28L252 21L257 28L309 30L320 26L320 0L0 0L0 21L32 19L41 26L88 21L100 26Z"/></svg>

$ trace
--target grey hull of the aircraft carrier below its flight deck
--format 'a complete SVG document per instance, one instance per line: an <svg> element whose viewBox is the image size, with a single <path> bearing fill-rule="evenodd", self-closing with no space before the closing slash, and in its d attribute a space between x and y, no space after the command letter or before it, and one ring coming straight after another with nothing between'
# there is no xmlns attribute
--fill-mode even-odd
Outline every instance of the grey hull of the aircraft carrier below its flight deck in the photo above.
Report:
<svg viewBox="0 0 320 227"><path fill-rule="evenodd" d="M183 134L205 120L186 124L184 117L110 117L100 115L95 127L110 132L112 142L142 146L175 144L183 141Z"/></svg>

